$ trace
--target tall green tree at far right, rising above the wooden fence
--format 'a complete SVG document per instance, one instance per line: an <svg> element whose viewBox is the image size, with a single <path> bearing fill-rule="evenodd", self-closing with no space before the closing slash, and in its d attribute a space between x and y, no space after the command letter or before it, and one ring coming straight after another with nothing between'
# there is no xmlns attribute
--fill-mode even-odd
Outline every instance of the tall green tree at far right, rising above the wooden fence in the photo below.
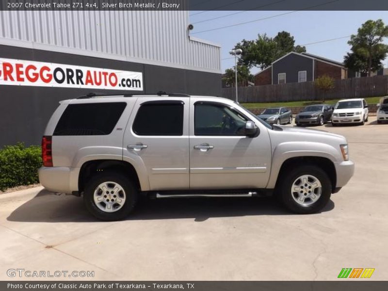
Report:
<svg viewBox="0 0 388 291"><path fill-rule="evenodd" d="M352 46L351 53L344 57L346 67L361 72L368 72L382 67L381 62L386 58L388 45L384 44L384 38L388 37L388 26L383 20L368 20L352 34L348 44Z"/></svg>

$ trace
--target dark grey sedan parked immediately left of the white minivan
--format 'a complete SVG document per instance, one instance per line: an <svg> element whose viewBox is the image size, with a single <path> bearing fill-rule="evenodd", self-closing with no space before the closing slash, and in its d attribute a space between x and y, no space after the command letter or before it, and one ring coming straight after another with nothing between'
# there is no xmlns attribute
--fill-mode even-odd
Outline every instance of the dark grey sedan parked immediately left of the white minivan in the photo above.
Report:
<svg viewBox="0 0 388 291"><path fill-rule="evenodd" d="M330 105L309 105L306 106L300 113L295 116L296 126L303 125L323 125L330 121L333 113L333 107Z"/></svg>

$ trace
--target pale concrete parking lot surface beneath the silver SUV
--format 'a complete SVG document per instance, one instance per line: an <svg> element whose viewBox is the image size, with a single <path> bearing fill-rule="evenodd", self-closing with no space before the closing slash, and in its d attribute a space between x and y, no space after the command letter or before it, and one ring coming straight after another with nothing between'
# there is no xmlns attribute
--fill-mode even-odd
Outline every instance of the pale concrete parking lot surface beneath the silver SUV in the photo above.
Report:
<svg viewBox="0 0 388 291"><path fill-rule="evenodd" d="M7 276L22 268L94 271L95 280L336 280L342 268L375 268L370 280L388 280L388 124L375 120L313 127L346 136L356 163L313 215L271 198L179 198L100 222L78 197L42 187L2 194L0 279L42 279Z"/></svg>

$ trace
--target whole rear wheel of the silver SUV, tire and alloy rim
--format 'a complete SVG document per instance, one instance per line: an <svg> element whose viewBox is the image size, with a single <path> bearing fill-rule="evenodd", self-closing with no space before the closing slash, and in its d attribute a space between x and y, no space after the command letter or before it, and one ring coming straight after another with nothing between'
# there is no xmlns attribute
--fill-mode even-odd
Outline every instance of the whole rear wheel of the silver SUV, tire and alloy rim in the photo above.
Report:
<svg viewBox="0 0 388 291"><path fill-rule="evenodd" d="M137 201L133 183L115 172L97 175L86 185L83 202L89 212L101 220L121 220L128 216Z"/></svg>

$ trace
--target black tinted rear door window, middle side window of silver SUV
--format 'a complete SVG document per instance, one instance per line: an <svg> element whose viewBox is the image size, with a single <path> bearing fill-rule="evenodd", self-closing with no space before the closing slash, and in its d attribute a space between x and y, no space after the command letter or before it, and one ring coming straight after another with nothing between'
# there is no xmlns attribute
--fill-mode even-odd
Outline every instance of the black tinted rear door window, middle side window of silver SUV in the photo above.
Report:
<svg viewBox="0 0 388 291"><path fill-rule="evenodd" d="M132 129L137 135L182 135L183 102L142 104Z"/></svg>

